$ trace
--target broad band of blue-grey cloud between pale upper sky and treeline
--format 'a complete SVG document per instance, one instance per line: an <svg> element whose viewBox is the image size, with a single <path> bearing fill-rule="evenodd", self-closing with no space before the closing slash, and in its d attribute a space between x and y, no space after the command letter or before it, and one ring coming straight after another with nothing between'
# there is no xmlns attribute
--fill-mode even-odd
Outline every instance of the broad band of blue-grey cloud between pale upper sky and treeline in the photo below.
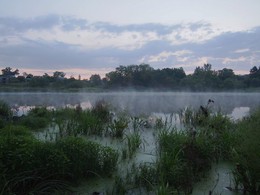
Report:
<svg viewBox="0 0 260 195"><path fill-rule="evenodd" d="M260 27L225 32L206 22L115 25L58 15L0 18L0 65L27 69L111 70L149 63L191 72L211 63L246 71L259 63L259 43Z"/></svg>

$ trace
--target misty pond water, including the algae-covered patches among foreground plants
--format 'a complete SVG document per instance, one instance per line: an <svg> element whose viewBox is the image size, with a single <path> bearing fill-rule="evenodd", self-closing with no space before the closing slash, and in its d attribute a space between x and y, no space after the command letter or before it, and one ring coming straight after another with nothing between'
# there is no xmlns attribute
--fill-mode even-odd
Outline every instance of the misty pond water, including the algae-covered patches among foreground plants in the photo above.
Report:
<svg viewBox="0 0 260 195"><path fill-rule="evenodd" d="M260 93L190 93L190 92L111 92L111 93L0 93L3 100L17 111L17 115L26 114L35 106L49 108L74 107L81 105L91 108L97 101L104 100L111 105L114 112L126 111L131 116L157 117L163 120L174 118L174 125L178 126L176 113L181 109L207 106L208 100L213 112L221 111L233 120L239 120L249 114L260 105ZM44 137L44 132L39 137ZM92 137L94 141L113 148L122 145L110 139ZM152 131L142 131L142 147L135 157L135 162L153 163L156 160L155 139ZM231 184L232 165L220 162L214 165L208 176L194 186L193 194L208 194L214 188L214 192L221 194L234 194L225 189ZM92 182L93 185L84 184L77 190L82 192L104 191L111 186L111 181L104 178Z"/></svg>

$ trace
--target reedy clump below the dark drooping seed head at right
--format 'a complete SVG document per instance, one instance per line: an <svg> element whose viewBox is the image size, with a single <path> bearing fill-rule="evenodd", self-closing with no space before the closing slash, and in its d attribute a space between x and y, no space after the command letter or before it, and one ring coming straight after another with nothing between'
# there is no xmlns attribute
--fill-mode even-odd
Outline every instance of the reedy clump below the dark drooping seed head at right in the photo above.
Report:
<svg viewBox="0 0 260 195"><path fill-rule="evenodd" d="M179 117L191 138L204 137L204 141L208 142L212 149L214 160L231 158L230 151L236 136L235 126L230 118L221 112L210 113L210 110L207 110L205 115L200 108L198 110L186 108L179 111Z"/></svg>

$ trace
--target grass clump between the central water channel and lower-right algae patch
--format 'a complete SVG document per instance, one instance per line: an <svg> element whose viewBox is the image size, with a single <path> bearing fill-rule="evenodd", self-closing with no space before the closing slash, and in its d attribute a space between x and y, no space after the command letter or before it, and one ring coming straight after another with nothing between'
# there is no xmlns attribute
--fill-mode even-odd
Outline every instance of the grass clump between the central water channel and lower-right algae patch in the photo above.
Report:
<svg viewBox="0 0 260 195"><path fill-rule="evenodd" d="M161 129L157 134L157 170L160 183L177 191L190 193L211 167L213 147L204 134L192 136L189 131Z"/></svg>

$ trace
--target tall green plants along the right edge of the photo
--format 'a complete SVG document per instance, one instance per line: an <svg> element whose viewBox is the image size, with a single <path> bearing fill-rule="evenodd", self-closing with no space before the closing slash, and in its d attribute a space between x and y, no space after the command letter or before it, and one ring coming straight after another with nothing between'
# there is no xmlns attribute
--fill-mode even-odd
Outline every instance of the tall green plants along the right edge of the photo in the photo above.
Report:
<svg viewBox="0 0 260 195"><path fill-rule="evenodd" d="M245 193L260 193L260 108L237 124L238 139L233 152L236 188Z"/></svg>

